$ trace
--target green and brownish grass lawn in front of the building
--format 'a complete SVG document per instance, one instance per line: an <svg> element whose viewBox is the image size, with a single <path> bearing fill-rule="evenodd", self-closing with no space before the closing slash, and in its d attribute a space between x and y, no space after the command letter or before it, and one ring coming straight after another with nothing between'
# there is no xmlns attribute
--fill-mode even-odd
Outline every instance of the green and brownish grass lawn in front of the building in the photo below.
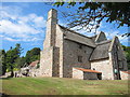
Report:
<svg viewBox="0 0 130 97"><path fill-rule="evenodd" d="M12 78L2 80L8 95L127 95L128 81L65 78Z"/></svg>

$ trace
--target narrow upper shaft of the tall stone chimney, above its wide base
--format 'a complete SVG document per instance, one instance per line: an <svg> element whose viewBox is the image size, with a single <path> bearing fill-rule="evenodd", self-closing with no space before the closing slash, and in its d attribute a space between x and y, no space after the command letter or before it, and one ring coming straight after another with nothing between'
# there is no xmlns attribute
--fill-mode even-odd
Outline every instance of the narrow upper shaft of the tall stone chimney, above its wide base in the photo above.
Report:
<svg viewBox="0 0 130 97"><path fill-rule="evenodd" d="M43 48L55 46L56 24L57 24L57 12L56 10L52 9L48 13L47 31L46 31L46 40L43 43Z"/></svg>

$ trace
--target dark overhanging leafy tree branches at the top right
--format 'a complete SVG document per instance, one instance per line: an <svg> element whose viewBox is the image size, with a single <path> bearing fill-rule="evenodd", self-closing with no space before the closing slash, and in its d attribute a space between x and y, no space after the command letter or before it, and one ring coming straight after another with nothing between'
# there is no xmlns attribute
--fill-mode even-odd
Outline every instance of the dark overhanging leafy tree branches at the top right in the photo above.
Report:
<svg viewBox="0 0 130 97"><path fill-rule="evenodd" d="M53 5L62 6L65 2L55 2ZM76 2L68 2L68 6L74 6ZM77 12L64 13L68 17L68 27L83 27L88 31L98 29L103 19L107 23L116 23L117 28L130 26L130 3L129 2L79 2ZM130 36L130 33L123 33Z"/></svg>

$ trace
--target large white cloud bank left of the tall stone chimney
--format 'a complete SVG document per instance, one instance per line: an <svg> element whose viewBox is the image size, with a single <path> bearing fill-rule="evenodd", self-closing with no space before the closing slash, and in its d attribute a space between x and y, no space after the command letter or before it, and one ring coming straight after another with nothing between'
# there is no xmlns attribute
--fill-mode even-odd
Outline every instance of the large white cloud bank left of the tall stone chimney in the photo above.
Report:
<svg viewBox="0 0 130 97"><path fill-rule="evenodd" d="M1 10L1 9L0 9ZM13 14L13 12L15 12ZM35 13L22 15L20 6L2 6L0 18L0 36L8 41L38 41L43 34L46 20Z"/></svg>

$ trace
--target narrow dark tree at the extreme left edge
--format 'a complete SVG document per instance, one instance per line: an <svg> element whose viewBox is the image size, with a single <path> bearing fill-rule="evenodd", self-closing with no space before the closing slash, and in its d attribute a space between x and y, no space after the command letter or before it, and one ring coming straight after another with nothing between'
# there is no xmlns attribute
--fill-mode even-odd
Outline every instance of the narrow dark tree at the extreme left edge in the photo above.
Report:
<svg viewBox="0 0 130 97"><path fill-rule="evenodd" d="M1 59L1 65L0 65L0 75L4 75L5 71L6 71L6 64L5 64L5 51L4 50L0 50L0 59Z"/></svg>

